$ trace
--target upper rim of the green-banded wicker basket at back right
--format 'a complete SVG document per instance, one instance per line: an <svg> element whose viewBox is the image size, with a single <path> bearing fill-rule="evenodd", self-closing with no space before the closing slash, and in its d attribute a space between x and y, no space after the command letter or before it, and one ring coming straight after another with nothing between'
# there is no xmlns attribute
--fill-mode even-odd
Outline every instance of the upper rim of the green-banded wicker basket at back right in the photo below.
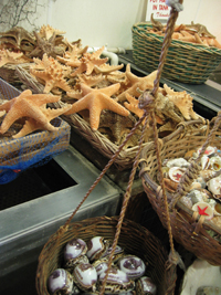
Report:
<svg viewBox="0 0 221 295"><path fill-rule="evenodd" d="M158 34L155 34L155 33L150 33L150 32L147 32L146 29L144 28L139 28L139 27L152 27L151 23L149 22L137 22L135 24L133 24L131 27L131 31L133 31L133 34L138 34L145 39L149 39L150 41L157 41L159 42L160 46L162 44L162 41L164 41L164 36L160 36ZM143 32L138 32L136 29L140 29L140 31ZM210 46L208 48L207 45L204 44L197 44L197 43L192 43L192 42L186 42L186 41L181 41L181 40L171 40L171 43L170 43L170 48L176 48L176 49L189 49L189 50L192 50L192 51L196 51L196 52L202 52L202 53L208 53L208 54L217 54L218 56L221 57L221 49L218 49L218 48L214 48L214 46Z"/></svg>

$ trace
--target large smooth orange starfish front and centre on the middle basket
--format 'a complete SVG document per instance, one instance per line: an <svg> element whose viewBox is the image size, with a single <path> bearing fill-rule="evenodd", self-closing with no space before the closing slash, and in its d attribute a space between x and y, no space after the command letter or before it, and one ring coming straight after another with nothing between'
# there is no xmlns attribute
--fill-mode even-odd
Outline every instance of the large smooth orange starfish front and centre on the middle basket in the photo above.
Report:
<svg viewBox="0 0 221 295"><path fill-rule="evenodd" d="M105 88L91 88L85 84L81 84L83 97L72 105L72 108L65 113L71 115L82 109L90 109L90 124L92 130L97 130L99 126L99 116L102 109L109 109L122 116L128 116L129 112L110 96L119 89L119 83L113 84Z"/></svg>

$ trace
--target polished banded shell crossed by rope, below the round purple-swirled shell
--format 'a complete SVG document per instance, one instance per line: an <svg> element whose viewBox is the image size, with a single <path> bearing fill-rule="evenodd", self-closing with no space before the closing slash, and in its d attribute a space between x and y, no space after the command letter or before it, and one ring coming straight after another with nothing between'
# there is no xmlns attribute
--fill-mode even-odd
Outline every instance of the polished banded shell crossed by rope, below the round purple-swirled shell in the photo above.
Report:
<svg viewBox="0 0 221 295"><path fill-rule="evenodd" d="M106 276L106 272L99 275L98 288L101 289L102 283ZM105 294L118 294L122 292L129 292L135 288L135 282L129 280L127 274L116 267L110 267L105 285Z"/></svg>

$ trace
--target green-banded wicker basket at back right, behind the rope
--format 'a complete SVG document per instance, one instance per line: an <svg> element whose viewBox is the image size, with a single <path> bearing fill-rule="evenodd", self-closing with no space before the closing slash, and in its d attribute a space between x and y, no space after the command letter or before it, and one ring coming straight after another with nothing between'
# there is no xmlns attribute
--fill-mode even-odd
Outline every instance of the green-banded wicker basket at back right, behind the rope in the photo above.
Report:
<svg viewBox="0 0 221 295"><path fill-rule="evenodd" d="M133 57L137 66L147 72L158 69L164 36L149 33L151 23L133 25ZM164 64L162 77L189 84L204 83L221 63L221 50L172 40Z"/></svg>

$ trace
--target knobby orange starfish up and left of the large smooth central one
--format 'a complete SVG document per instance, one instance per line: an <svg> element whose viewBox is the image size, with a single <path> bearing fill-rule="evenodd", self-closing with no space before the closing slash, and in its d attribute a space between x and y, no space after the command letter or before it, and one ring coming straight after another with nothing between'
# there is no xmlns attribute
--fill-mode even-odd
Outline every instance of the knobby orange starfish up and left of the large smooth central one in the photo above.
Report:
<svg viewBox="0 0 221 295"><path fill-rule="evenodd" d="M65 92L71 92L72 88L67 84L65 77L71 73L71 67L61 65L53 57L43 55L42 61L33 59L35 64L30 66L30 73L45 81L44 93L49 93L53 88L62 88Z"/></svg>

